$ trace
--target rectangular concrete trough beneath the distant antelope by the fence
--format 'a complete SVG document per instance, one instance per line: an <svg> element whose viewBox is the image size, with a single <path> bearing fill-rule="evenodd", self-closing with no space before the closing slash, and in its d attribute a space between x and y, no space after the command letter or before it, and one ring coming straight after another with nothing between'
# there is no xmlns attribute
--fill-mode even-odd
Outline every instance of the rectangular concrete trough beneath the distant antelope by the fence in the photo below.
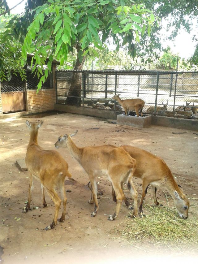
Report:
<svg viewBox="0 0 198 264"><path fill-rule="evenodd" d="M127 125L137 128L145 128L151 125L152 116L143 115L143 117L131 116L131 115L117 115L117 124Z"/></svg>

